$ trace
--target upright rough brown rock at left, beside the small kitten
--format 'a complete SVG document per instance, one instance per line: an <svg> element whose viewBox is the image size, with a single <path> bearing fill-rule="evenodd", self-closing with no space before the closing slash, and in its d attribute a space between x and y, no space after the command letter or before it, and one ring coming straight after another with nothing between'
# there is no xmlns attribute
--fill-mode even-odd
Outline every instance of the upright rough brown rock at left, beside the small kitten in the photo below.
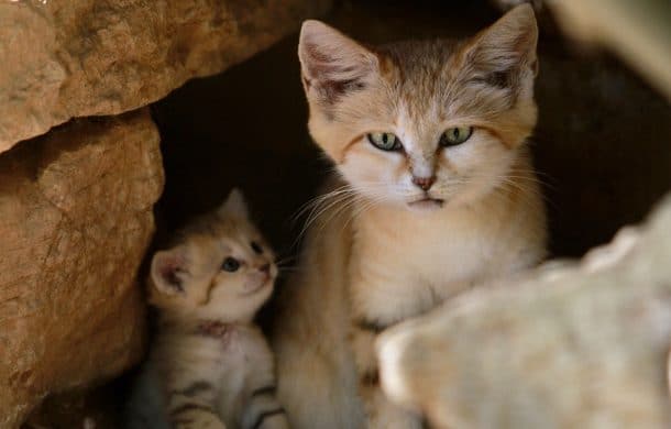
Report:
<svg viewBox="0 0 671 429"><path fill-rule="evenodd" d="M140 359L136 275L162 188L146 110L76 120L0 156L0 427Z"/></svg>

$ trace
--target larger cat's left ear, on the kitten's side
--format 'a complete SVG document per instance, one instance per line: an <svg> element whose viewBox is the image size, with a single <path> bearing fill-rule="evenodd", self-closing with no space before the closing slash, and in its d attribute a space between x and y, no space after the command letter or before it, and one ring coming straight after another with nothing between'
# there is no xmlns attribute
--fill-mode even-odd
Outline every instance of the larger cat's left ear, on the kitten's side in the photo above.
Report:
<svg viewBox="0 0 671 429"><path fill-rule="evenodd" d="M306 94L324 105L365 88L378 68L373 52L315 20L302 23L298 58Z"/></svg>

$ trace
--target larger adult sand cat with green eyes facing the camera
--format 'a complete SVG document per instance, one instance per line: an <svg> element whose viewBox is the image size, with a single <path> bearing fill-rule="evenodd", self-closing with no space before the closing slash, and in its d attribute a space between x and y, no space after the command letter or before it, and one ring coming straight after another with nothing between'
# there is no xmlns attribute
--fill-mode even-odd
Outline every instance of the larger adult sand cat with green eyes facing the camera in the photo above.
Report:
<svg viewBox="0 0 671 429"><path fill-rule="evenodd" d="M380 391L376 334L543 256L536 42L529 6L464 42L364 47L304 23L308 125L338 174L274 324L293 426L420 427Z"/></svg>

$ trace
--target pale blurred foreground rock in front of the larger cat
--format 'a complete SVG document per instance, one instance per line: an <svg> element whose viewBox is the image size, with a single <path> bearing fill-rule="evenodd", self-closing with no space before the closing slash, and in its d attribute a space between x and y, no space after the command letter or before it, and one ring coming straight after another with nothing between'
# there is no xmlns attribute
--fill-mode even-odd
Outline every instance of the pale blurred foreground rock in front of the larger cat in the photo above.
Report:
<svg viewBox="0 0 671 429"><path fill-rule="evenodd" d="M640 229L382 334L381 378L438 428L669 428L671 196Z"/></svg>

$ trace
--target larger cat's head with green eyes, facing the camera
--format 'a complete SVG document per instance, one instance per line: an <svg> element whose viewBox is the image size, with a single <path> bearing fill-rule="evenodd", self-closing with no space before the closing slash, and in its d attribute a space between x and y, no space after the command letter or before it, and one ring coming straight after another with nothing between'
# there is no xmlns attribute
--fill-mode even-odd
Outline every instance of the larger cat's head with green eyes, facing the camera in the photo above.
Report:
<svg viewBox="0 0 671 429"><path fill-rule="evenodd" d="M369 48L306 21L298 53L310 133L371 200L477 200L506 182L536 124L536 42L529 6L461 43Z"/></svg>

